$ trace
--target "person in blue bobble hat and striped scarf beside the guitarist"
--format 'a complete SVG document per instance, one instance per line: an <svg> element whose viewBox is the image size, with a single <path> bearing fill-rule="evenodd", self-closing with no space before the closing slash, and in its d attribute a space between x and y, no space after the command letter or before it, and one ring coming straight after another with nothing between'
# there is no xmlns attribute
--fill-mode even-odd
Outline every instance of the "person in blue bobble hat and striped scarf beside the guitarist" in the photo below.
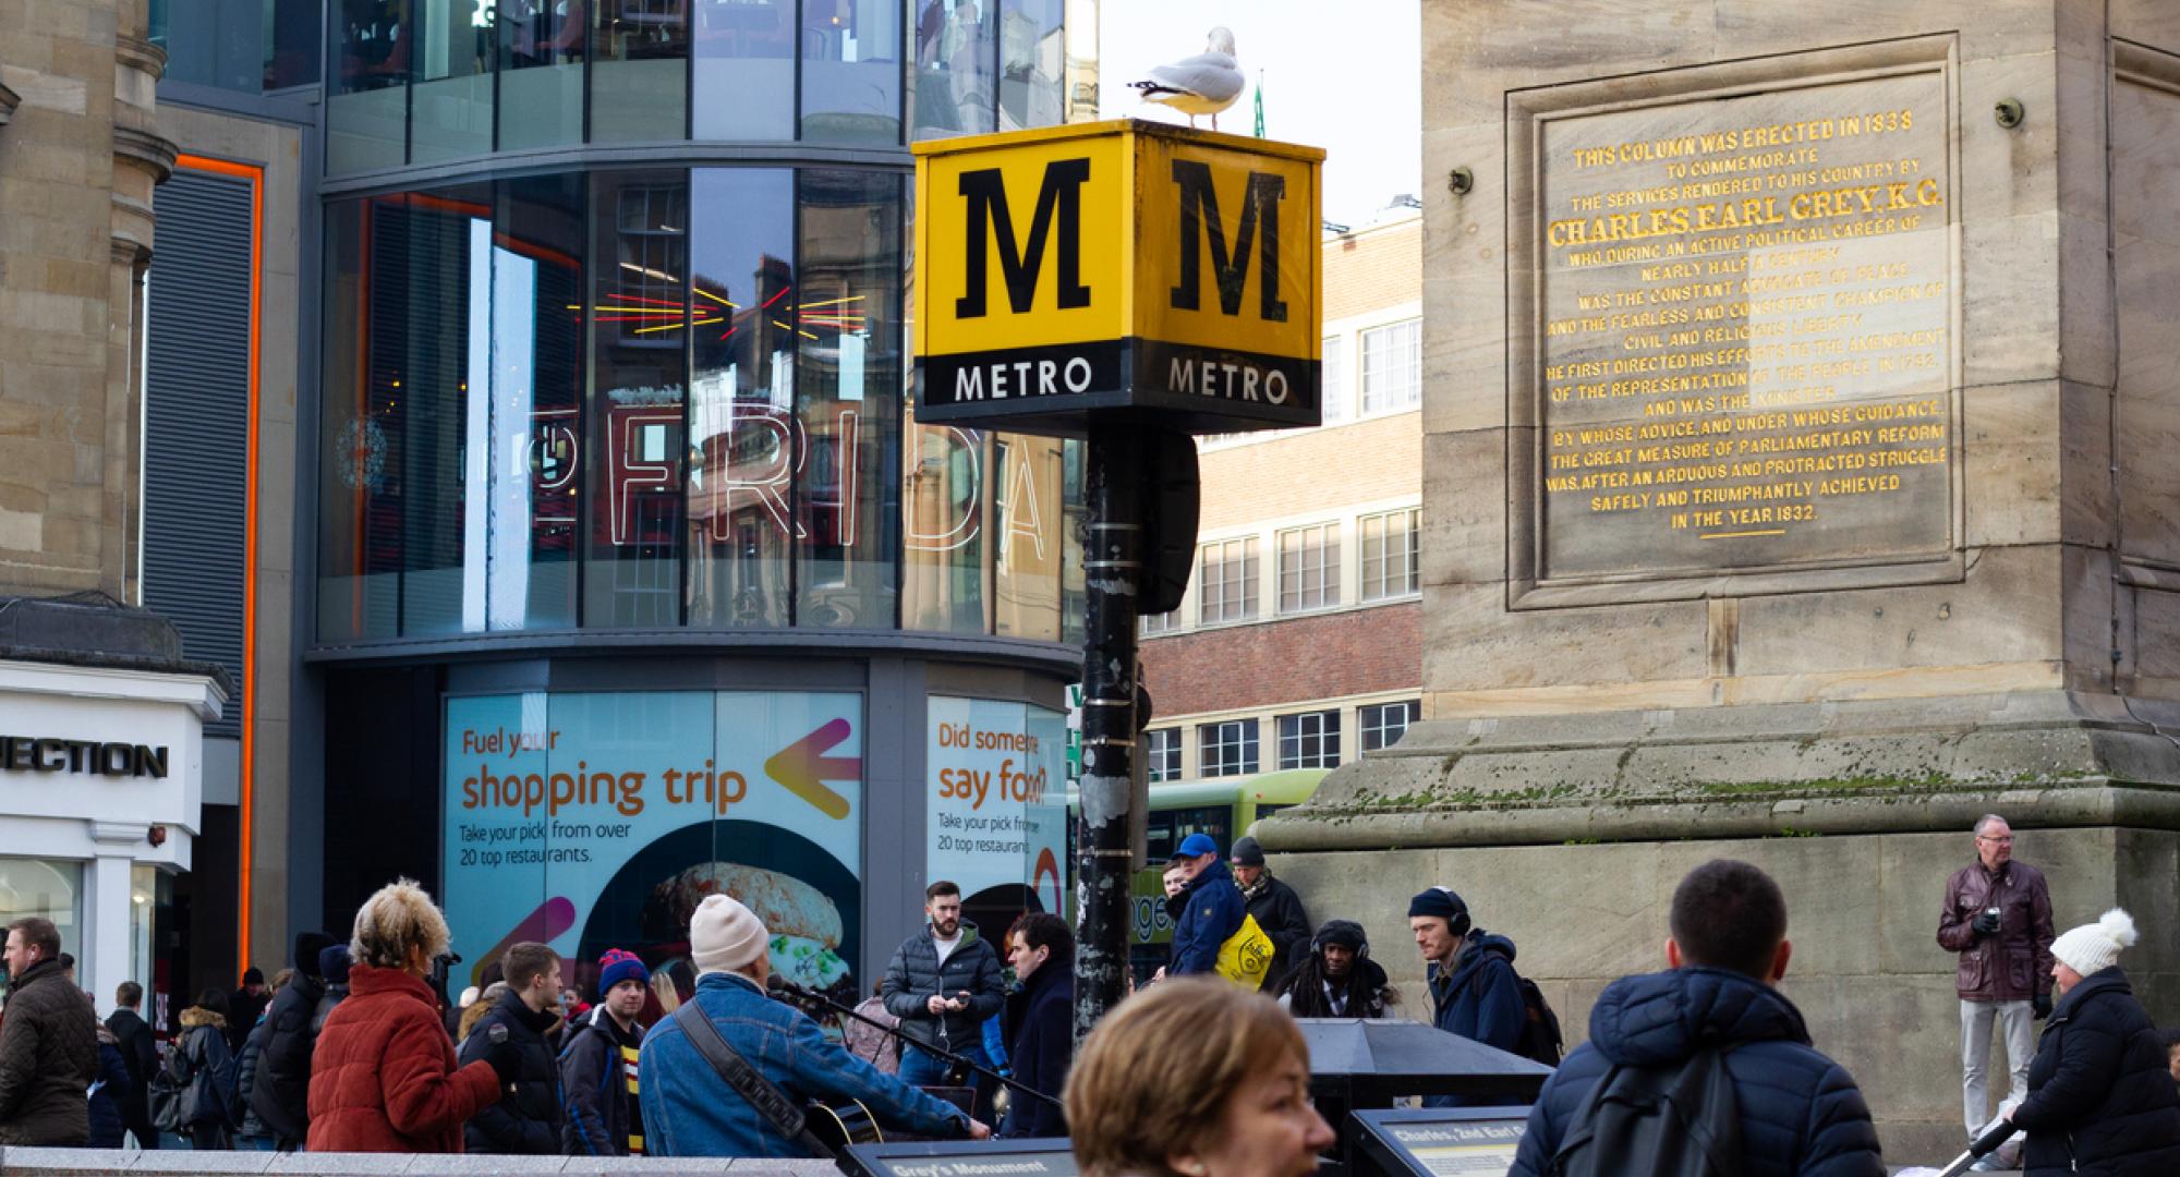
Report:
<svg viewBox="0 0 2180 1177"><path fill-rule="evenodd" d="M560 1151L571 1157L628 1157L643 1153L643 1109L637 1103L637 1061L643 1046L643 996L652 972L634 952L608 948L597 959L597 1005L567 1029L560 1051L560 1090L567 1125Z"/></svg>

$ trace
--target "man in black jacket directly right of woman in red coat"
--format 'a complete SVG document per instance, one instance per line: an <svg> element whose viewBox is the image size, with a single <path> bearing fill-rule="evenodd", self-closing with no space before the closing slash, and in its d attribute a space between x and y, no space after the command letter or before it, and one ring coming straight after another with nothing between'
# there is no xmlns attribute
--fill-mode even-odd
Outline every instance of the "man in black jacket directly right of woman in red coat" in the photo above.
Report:
<svg viewBox="0 0 2180 1177"><path fill-rule="evenodd" d="M560 1066L547 1031L560 1018L560 957L536 942L521 942L501 957L508 992L462 1042L462 1066L493 1053L493 1027L508 1029L517 1068L499 1103L477 1112L462 1129L471 1153L560 1153Z"/></svg>

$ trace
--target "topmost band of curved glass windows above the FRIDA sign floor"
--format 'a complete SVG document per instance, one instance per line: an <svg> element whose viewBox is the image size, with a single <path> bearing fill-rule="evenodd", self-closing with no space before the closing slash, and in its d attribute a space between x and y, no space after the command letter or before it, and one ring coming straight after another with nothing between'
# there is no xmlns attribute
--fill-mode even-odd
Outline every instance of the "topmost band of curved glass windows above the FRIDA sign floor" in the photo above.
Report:
<svg viewBox="0 0 2180 1177"><path fill-rule="evenodd" d="M1051 126L1066 0L347 0L327 170L573 144Z"/></svg>

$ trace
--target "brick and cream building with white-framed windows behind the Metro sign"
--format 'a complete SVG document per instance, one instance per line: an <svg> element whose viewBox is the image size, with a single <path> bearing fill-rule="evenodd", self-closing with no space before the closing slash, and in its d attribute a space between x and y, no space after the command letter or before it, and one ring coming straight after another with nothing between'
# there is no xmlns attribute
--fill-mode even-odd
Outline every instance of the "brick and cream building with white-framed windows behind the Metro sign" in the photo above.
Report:
<svg viewBox="0 0 2180 1177"><path fill-rule="evenodd" d="M1182 608L1144 619L1151 782L1336 767L1421 711L1415 211L1325 235L1325 425L1201 442Z"/></svg>

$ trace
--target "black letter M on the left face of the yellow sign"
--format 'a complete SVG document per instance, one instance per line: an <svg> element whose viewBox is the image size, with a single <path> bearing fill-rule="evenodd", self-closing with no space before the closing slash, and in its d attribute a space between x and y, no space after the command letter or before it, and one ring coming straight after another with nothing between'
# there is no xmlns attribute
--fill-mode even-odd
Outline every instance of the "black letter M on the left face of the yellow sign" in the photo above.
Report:
<svg viewBox="0 0 2180 1177"><path fill-rule="evenodd" d="M1053 235L1053 220L1059 220L1057 286L1059 310L1090 305L1090 288L1083 286L1083 183L1090 181L1088 159L1053 159L1038 181L1038 211L1029 216L1029 240L1014 235L1014 211L1007 207L1007 185L998 168L961 172L961 196L968 201L968 233L964 235L966 259L961 275L968 292L955 299L957 318L983 318L985 288L990 286L988 259L990 238L998 238L998 270L1007 281L1007 305L1014 314L1029 314L1038 299L1038 275L1044 270L1044 246ZM990 229L990 233L988 233Z"/></svg>

